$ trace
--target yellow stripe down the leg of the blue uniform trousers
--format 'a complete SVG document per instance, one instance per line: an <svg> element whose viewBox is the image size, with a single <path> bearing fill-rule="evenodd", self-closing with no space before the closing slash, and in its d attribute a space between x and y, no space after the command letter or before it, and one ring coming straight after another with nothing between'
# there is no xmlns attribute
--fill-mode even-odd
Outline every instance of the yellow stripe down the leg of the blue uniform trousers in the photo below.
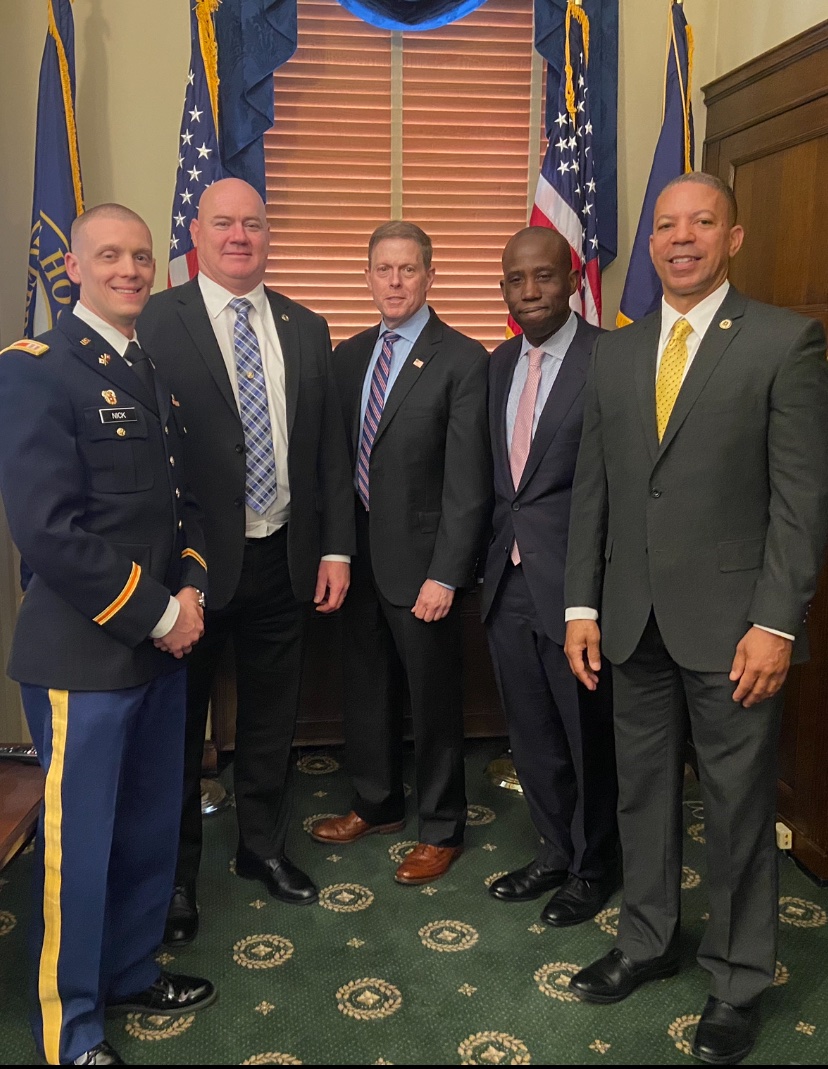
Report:
<svg viewBox="0 0 828 1069"><path fill-rule="evenodd" d="M43 1049L49 1065L60 1064L63 1004L58 988L61 947L61 866L63 862L63 766L68 727L68 691L49 691L51 759L46 773L43 807L44 884L43 946L37 971L37 997L43 1017ZM38 749L40 753L40 749Z"/></svg>

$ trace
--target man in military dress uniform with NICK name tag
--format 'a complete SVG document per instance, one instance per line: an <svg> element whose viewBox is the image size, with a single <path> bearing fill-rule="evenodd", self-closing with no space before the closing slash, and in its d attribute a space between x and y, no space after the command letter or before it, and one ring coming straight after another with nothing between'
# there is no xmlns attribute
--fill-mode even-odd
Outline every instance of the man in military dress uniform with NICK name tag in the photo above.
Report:
<svg viewBox="0 0 828 1069"><path fill-rule="evenodd" d="M46 773L32 1028L51 1065L123 1065L105 1010L189 1013L212 983L155 960L175 868L182 657L203 632L185 428L138 343L155 277L121 204L76 219L80 300L0 356L0 491L26 568L9 675Z"/></svg>

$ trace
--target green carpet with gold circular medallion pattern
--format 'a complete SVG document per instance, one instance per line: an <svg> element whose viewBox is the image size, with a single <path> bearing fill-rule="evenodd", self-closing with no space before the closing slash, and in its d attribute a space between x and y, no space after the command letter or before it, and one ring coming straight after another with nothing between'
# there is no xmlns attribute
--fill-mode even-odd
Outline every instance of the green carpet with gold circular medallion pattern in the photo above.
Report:
<svg viewBox="0 0 828 1069"><path fill-rule="evenodd" d="M337 852L314 842L314 819L348 808L341 752L308 750L297 773L291 857L323 888L319 905L269 899L231 874L232 809L206 821L200 884L202 931L161 955L172 971L204 975L219 1001L200 1014L134 1014L108 1039L134 1064L153 1065L665 1065L698 1064L689 1040L706 998L694 962L705 923L704 816L699 788L686 800L682 957L674 979L649 985L618 1006L573 1000L566 982L612 945L618 896L578 928L538 923L544 899L505 904L489 881L524 864L533 833L522 799L483 777L497 741L469 744L470 826L466 853L434 886L394 883L416 837L406 830ZM28 1065L26 928L31 857L0 876L0 1063ZM828 1062L828 889L782 861L776 986L746 1064Z"/></svg>

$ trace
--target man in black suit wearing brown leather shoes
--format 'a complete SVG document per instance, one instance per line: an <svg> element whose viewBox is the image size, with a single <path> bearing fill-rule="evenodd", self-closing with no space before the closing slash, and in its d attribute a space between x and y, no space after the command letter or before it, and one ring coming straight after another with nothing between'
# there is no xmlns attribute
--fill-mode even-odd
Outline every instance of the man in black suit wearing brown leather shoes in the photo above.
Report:
<svg viewBox="0 0 828 1069"><path fill-rule="evenodd" d="M419 842L396 870L427 883L459 854L466 823L460 617L488 518L486 351L426 305L432 244L379 227L365 269L382 315L334 353L356 509L345 623L345 749L355 800L314 838L353 842L403 826L403 682L417 757Z"/></svg>

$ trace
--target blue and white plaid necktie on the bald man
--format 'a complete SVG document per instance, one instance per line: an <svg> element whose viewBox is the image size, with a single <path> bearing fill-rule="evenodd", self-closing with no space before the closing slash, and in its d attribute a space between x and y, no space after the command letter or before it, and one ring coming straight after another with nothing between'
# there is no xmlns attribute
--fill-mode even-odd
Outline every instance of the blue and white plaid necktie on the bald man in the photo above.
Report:
<svg viewBox="0 0 828 1069"><path fill-rule="evenodd" d="M234 297L230 307L236 313L233 351L236 358L238 407L245 431L247 482L245 500L255 512L266 512L276 500L276 456L267 389L259 339L248 316L253 307L245 297Z"/></svg>

